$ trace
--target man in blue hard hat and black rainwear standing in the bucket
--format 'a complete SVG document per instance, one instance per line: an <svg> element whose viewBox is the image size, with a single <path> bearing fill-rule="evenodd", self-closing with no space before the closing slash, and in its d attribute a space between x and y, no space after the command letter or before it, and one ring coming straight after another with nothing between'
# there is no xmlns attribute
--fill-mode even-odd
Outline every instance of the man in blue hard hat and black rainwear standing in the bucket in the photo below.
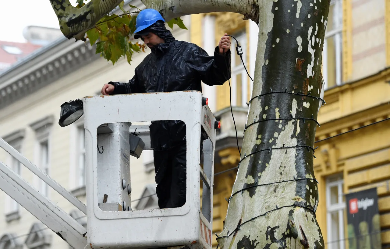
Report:
<svg viewBox="0 0 390 249"><path fill-rule="evenodd" d="M134 38L141 38L152 52L137 66L129 82L103 85L103 95L202 91L201 81L210 86L222 85L231 77L227 34L215 48L214 56L208 56L195 44L177 41L164 22L157 10L140 11ZM181 207L186 202L186 125L180 120L153 121L150 134L158 205ZM207 135L202 134L201 148L204 139Z"/></svg>

